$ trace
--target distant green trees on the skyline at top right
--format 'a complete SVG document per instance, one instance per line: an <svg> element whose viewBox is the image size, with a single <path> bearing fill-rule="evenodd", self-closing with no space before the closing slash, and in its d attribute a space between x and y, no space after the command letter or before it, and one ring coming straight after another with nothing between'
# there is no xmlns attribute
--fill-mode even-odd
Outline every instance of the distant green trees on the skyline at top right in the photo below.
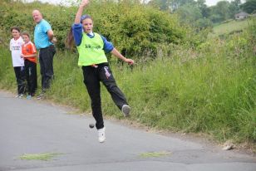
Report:
<svg viewBox="0 0 256 171"><path fill-rule="evenodd" d="M251 13L255 10L254 3L255 0L248 0L244 4L241 0L219 1L216 5L207 7L205 0L150 0L148 5L162 11L177 13L182 23L202 29L212 27L211 22L220 23L232 19L242 9Z"/></svg>

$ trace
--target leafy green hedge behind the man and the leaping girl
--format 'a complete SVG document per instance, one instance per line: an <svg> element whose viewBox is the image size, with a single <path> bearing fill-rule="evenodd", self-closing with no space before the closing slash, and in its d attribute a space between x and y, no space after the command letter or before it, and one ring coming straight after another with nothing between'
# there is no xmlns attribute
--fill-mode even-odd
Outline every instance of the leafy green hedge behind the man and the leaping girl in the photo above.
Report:
<svg viewBox="0 0 256 171"><path fill-rule="evenodd" d="M77 7L53 6L47 3L1 2L0 27L2 34L9 35L13 26L33 34L35 23L32 10L39 9L50 22L57 37L57 48L64 50L66 35L75 19ZM92 1L85 9L94 20L94 31L101 33L126 56L139 57L159 48L185 42L187 32L180 27L175 16L131 1ZM6 39L1 35L1 39Z"/></svg>

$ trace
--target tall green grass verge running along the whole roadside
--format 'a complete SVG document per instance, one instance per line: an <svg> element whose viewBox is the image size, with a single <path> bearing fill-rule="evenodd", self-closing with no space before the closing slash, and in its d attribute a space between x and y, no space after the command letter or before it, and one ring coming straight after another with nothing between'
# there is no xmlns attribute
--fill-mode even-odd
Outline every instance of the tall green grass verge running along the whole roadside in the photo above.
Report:
<svg viewBox="0 0 256 171"><path fill-rule="evenodd" d="M246 39L249 36L244 33L243 37L216 38L197 51L174 46L169 56L134 67L111 62L117 84L132 107L131 120L159 129L255 143L255 55ZM1 88L15 90L10 54L4 48L1 54ZM57 53L55 79L47 98L89 112L91 102L76 63L76 54ZM103 86L101 91L104 115L119 118L121 112L111 95Z"/></svg>

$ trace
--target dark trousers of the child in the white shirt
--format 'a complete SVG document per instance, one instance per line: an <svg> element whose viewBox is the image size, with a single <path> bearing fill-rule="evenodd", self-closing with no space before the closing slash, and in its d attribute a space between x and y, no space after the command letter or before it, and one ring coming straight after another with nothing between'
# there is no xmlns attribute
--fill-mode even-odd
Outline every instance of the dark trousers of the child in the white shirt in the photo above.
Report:
<svg viewBox="0 0 256 171"><path fill-rule="evenodd" d="M26 93L26 76L25 76L25 67L24 66L15 66L13 67L16 81L17 81L17 94Z"/></svg>

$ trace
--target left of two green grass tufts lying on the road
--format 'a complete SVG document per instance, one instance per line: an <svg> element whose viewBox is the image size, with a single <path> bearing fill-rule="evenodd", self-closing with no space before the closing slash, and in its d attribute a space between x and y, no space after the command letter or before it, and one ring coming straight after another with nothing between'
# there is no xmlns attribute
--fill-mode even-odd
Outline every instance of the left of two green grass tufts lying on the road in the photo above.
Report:
<svg viewBox="0 0 256 171"><path fill-rule="evenodd" d="M22 156L20 156L20 159L49 161L58 155L61 155L61 154L58 154L58 153L23 154Z"/></svg>

